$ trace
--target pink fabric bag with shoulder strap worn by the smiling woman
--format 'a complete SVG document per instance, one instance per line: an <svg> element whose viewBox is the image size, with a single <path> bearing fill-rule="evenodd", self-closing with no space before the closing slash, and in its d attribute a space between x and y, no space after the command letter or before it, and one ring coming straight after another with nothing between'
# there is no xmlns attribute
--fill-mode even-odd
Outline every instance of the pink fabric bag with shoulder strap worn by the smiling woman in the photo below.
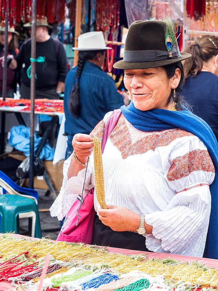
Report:
<svg viewBox="0 0 218 291"><path fill-rule="evenodd" d="M105 149L107 139L116 126L120 115L120 109L114 110L105 126L102 139L102 153ZM73 203L70 210L66 214L66 219L57 237L57 241L76 243L84 242L85 244L92 243L94 218L96 214L94 209L93 196L94 188L89 191L87 196L83 197L82 195L79 195L77 197L76 201Z"/></svg>

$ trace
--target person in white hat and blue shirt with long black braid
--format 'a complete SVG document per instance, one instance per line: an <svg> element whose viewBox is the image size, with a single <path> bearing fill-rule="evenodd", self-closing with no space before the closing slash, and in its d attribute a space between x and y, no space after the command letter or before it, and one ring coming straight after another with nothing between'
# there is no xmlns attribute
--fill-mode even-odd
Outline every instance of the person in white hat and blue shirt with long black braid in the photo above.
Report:
<svg viewBox="0 0 218 291"><path fill-rule="evenodd" d="M66 158L72 152L73 136L89 134L108 111L120 108L125 92L118 93L115 82L101 67L106 47L102 31L83 33L78 37L78 65L72 68L65 80L64 112L65 133L68 135Z"/></svg>

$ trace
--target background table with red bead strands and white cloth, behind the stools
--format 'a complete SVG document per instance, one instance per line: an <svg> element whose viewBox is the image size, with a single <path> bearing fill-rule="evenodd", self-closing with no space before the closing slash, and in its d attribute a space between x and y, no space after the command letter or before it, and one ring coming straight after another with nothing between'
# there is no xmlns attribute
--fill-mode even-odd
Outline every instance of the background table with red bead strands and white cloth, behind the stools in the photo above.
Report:
<svg viewBox="0 0 218 291"><path fill-rule="evenodd" d="M2 101L2 98L0 98L0 112L4 113L14 113L19 125L25 125L29 126L29 119L30 119L30 100L29 99L19 99L14 100L11 98L6 98L6 101ZM66 152L66 145L67 145L67 138L66 136L63 136L64 134L64 122L65 122L65 116L64 116L64 107L63 107L63 100L46 100L46 99L36 99L35 100L35 114L36 116L41 115L47 115L51 116L51 121L49 122L49 126L46 129L46 132L44 133L41 142L39 143L39 150L37 151L37 155L39 155L40 151L42 150L42 147L44 146L48 134L51 132L53 126L55 123L57 123L57 120L59 119L60 130L57 137L57 144L55 147L55 154L53 159L53 164L56 164L61 159L64 159L65 152ZM6 116L7 117L7 116ZM37 118L36 118L37 119ZM12 118L9 118L6 121L9 123L7 124L7 129L11 128L12 126L16 125ZM37 119L37 122L39 122L39 119ZM37 125L35 125L37 127ZM1 141L0 142L0 152L3 153L4 151L4 132L5 132L5 125L1 127ZM44 179L46 181L46 184L48 185L48 189L50 190L51 194L53 195L53 198L55 199L58 195L57 189L55 188L51 177L48 174L48 171L45 171L44 173Z"/></svg>

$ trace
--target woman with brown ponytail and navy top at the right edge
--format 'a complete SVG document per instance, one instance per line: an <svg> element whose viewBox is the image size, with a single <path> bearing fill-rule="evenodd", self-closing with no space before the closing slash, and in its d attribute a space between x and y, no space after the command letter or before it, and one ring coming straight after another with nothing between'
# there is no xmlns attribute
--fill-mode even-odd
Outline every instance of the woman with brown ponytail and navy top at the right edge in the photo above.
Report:
<svg viewBox="0 0 218 291"><path fill-rule="evenodd" d="M183 61L182 95L192 106L193 113L210 125L218 141L218 38L202 36L184 52L192 56Z"/></svg>

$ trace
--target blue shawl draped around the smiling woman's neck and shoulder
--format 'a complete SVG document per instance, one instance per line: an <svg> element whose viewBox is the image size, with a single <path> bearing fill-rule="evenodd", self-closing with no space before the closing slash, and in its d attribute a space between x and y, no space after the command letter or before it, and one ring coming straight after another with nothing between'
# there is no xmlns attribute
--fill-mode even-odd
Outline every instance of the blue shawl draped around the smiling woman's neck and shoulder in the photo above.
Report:
<svg viewBox="0 0 218 291"><path fill-rule="evenodd" d="M212 130L205 121L187 108L184 108L184 111L165 109L141 111L131 102L128 107L122 106L121 111L125 118L141 131L181 128L197 136L206 145L214 164L215 179L210 184L211 212L203 256L218 259L218 145Z"/></svg>

